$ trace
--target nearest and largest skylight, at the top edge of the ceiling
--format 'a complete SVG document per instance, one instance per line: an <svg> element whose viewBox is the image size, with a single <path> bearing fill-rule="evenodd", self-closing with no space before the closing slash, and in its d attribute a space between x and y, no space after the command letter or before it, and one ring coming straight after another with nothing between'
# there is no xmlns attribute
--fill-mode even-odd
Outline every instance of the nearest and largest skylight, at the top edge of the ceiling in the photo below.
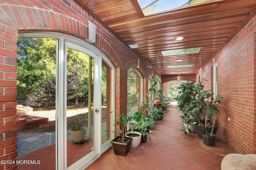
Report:
<svg viewBox="0 0 256 170"><path fill-rule="evenodd" d="M152 15L185 6L192 6L213 0L138 0L143 14ZM216 0L215 0L216 1Z"/></svg>

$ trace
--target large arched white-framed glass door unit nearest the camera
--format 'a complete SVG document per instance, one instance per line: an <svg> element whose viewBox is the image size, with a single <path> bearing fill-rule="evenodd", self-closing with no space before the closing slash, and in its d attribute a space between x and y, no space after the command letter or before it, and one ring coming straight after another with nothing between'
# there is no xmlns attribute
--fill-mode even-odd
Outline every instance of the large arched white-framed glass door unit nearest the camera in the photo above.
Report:
<svg viewBox="0 0 256 170"><path fill-rule="evenodd" d="M34 38L35 36L39 38ZM26 79L22 81L22 78L40 77L37 80L31 79L31 84L26 85L34 87L31 88L34 91L27 96L30 97L31 104L44 104L33 112L37 115L39 112L49 115L51 119L49 118L48 123L52 127L50 130L42 129L39 134L45 136L48 142L41 140L31 143L31 150L39 149L39 145L42 145L42 149L50 145L48 149L50 147L51 151L45 156L51 156L47 166L53 169L86 168L112 145L114 66L98 49L68 35L24 33L19 34L19 37L26 39L18 41L18 90L28 91L27 87L23 88ZM28 64L31 66L28 67ZM37 70L25 72L26 68ZM24 75L24 72L30 76ZM23 91L19 92L21 94ZM36 96L32 98L31 94ZM73 139L71 129L76 127L85 131L82 139ZM49 134L49 137L43 133ZM19 134L17 136L18 142L23 139ZM22 150L25 152L21 152ZM18 150L18 157L27 154L26 148L21 151Z"/></svg>

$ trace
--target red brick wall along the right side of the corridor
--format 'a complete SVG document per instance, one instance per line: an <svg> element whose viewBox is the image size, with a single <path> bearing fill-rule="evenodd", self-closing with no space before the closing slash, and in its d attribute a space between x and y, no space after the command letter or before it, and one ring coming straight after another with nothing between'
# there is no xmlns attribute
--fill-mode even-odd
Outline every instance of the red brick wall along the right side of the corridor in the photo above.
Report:
<svg viewBox="0 0 256 170"><path fill-rule="evenodd" d="M214 56L218 62L218 132L236 152L256 154L256 16ZM206 70L205 89L212 89L212 64ZM230 118L230 121L228 121Z"/></svg>

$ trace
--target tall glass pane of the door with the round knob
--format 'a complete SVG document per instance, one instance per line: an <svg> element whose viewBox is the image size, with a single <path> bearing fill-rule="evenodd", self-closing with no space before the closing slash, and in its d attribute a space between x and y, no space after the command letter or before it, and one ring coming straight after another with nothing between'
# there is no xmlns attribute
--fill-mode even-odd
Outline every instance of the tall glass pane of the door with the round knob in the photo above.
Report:
<svg viewBox="0 0 256 170"><path fill-rule="evenodd" d="M67 165L94 150L94 59L67 49Z"/></svg>

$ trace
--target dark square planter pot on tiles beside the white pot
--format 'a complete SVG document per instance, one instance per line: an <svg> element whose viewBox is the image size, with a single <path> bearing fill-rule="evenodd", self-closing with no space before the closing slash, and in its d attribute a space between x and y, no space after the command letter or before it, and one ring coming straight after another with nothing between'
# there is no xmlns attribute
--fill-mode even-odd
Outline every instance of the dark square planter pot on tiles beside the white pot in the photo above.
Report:
<svg viewBox="0 0 256 170"><path fill-rule="evenodd" d="M111 143L113 145L113 149L114 149L114 154L126 156L126 154L130 150L132 138L124 137L125 139L127 139L126 143L118 142L120 138L122 138L122 137L118 136L113 141L111 141Z"/></svg>

